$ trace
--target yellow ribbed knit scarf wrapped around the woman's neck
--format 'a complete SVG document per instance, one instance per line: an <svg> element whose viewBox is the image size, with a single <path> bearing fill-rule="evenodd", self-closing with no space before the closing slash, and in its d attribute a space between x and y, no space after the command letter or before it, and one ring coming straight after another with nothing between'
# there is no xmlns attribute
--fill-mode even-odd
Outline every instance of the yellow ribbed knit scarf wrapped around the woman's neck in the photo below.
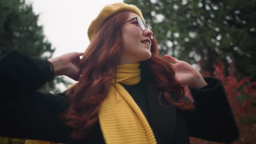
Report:
<svg viewBox="0 0 256 144"><path fill-rule="evenodd" d="M100 105L99 121L106 143L156 143L146 117L120 84L135 85L140 81L139 63L118 66L117 79L112 80L107 98Z"/></svg>

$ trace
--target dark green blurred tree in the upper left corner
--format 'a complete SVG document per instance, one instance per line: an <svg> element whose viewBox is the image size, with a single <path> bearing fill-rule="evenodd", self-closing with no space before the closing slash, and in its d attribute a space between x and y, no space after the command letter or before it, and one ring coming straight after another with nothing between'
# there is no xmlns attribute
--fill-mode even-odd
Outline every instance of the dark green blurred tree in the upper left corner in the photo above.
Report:
<svg viewBox="0 0 256 144"><path fill-rule="evenodd" d="M20 0L2 0L0 13L1 57L12 49L31 56L51 57L55 49L45 40L43 27L37 24L39 15L33 13L32 5Z"/></svg>

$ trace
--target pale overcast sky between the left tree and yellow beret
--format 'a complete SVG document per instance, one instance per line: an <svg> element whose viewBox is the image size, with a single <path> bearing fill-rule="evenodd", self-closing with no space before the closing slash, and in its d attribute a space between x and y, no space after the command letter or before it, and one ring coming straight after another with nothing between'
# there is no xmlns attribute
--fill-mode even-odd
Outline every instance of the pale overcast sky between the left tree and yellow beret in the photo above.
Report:
<svg viewBox="0 0 256 144"><path fill-rule="evenodd" d="M26 0L33 5L46 38L56 47L54 57L84 52L89 45L87 29L106 4L123 0Z"/></svg>

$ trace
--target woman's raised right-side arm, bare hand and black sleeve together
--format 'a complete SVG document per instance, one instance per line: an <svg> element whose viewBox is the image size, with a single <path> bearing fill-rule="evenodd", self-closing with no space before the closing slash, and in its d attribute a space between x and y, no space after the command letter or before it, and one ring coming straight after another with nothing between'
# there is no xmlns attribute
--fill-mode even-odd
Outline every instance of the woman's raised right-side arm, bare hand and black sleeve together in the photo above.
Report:
<svg viewBox="0 0 256 144"><path fill-rule="evenodd" d="M202 77L187 62L165 57L174 63L176 79L190 87L195 100L195 110L185 111L189 136L217 142L236 140L238 128L222 83L214 77Z"/></svg>

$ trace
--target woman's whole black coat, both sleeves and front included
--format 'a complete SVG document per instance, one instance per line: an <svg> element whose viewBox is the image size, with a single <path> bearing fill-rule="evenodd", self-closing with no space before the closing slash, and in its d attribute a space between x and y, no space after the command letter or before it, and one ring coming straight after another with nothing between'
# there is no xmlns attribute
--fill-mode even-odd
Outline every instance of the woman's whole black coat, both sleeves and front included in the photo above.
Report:
<svg viewBox="0 0 256 144"><path fill-rule="evenodd" d="M18 51L1 59L0 135L62 143L104 143L98 123L86 139L71 139L72 129L58 117L69 107L65 93L35 92L51 76L49 64L43 59ZM124 87L148 119L158 143L187 144L188 136L225 143L236 140L238 129L222 84L213 77L205 80L208 86L190 88L196 105L193 111L161 106L159 90L143 82Z"/></svg>

